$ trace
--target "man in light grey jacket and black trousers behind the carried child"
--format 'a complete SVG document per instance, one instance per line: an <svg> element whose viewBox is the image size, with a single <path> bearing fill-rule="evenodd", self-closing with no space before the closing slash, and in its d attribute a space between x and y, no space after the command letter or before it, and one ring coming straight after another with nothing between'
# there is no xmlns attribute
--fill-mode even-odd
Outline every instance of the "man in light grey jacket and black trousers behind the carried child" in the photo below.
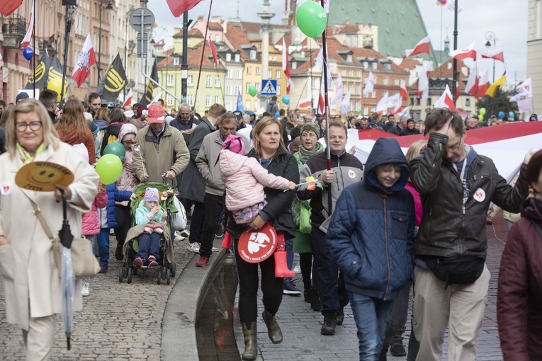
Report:
<svg viewBox="0 0 542 361"><path fill-rule="evenodd" d="M213 254L215 229L224 213L225 185L220 176L220 164L215 164L215 161L227 136L230 134L237 135L235 122L235 114L232 112L224 113L218 121L218 131L203 138L200 151L196 156L196 166L198 166L198 171L205 179L205 197L203 201L205 217L201 234L200 258L196 261L197 267L205 267L209 263L209 258ZM245 149L249 149L247 139L244 139L244 142Z"/></svg>

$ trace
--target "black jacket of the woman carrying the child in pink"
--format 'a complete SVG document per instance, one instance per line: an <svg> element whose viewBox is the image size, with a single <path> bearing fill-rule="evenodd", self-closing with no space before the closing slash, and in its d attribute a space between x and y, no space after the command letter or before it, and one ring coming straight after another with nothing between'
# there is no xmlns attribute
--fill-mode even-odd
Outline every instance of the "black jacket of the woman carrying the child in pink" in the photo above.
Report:
<svg viewBox="0 0 542 361"><path fill-rule="evenodd" d="M256 157L256 151L252 149L247 154L249 157ZM267 167L267 171L275 176L281 176L288 181L299 183L299 171L298 164L292 154L288 154L282 148L279 148L275 158L271 160L271 163ZM260 212L264 212L269 219L271 219L271 225L279 232L283 231L285 239L293 239L295 236L295 230L293 226L291 205L295 193L293 190L283 190L264 188L266 194L267 205ZM239 226L233 220L232 214L226 211L230 217L227 224L227 231L232 234L232 237L239 239L241 232L244 231L244 226Z"/></svg>

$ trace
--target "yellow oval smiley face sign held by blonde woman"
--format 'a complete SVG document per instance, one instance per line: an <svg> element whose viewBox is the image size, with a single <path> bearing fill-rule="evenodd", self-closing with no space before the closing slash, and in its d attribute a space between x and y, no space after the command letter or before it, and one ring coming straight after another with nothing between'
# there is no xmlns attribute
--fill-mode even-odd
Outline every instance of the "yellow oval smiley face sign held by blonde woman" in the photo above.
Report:
<svg viewBox="0 0 542 361"><path fill-rule="evenodd" d="M74 174L68 168L50 161L35 161L23 166L15 176L15 184L35 192L52 192L55 184L68 186Z"/></svg>

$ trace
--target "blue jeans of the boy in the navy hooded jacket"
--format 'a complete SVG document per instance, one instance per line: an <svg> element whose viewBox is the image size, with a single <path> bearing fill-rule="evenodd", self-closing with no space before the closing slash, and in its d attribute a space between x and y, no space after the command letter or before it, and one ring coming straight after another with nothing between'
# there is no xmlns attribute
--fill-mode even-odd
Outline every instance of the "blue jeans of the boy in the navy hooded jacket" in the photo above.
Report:
<svg viewBox="0 0 542 361"><path fill-rule="evenodd" d="M348 293L358 328L359 360L378 361L393 301Z"/></svg>

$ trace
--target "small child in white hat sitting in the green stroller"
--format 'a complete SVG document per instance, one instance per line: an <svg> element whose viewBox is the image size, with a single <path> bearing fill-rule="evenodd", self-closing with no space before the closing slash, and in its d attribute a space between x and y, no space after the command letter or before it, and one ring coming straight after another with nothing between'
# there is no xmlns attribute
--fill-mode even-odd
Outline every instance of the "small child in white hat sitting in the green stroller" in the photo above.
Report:
<svg viewBox="0 0 542 361"><path fill-rule="evenodd" d="M139 251L135 255L134 265L141 268L143 265L155 267L158 265L160 235L166 227L167 212L159 205L157 188L147 188L145 197L135 211L135 224L145 224L145 231L137 240ZM152 222L149 224L149 222Z"/></svg>

